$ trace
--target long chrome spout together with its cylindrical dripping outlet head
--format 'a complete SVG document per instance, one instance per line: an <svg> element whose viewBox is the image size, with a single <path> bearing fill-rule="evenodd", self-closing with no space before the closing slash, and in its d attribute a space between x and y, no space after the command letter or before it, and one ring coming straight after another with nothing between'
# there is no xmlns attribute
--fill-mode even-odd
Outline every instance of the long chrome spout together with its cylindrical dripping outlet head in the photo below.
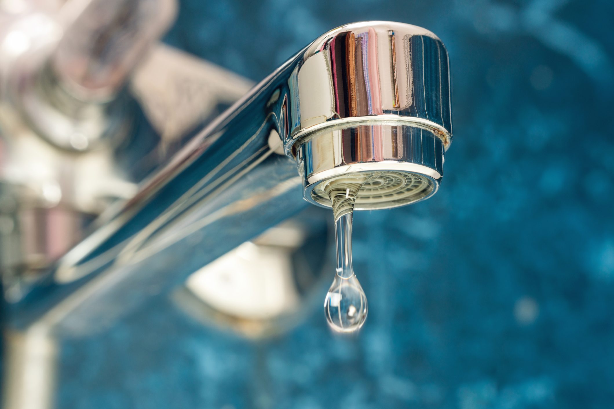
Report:
<svg viewBox="0 0 614 409"><path fill-rule="evenodd" d="M11 306L33 334L89 332L309 204L377 173L357 210L437 192L452 139L448 53L418 26L317 38L190 139ZM313 254L319 257L318 254Z"/></svg>

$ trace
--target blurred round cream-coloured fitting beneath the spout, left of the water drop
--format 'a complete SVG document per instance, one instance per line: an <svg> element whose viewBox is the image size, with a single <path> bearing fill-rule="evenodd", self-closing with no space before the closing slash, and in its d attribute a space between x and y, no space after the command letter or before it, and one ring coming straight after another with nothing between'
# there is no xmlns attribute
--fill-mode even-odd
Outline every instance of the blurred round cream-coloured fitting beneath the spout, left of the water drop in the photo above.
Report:
<svg viewBox="0 0 614 409"><path fill-rule="evenodd" d="M192 273L171 294L174 304L206 326L249 339L279 335L301 323L332 264L323 257L316 269L306 263L297 268L293 258L301 260L297 254L308 252L302 247L315 237L299 220L271 227ZM317 239L324 251L328 230Z"/></svg>

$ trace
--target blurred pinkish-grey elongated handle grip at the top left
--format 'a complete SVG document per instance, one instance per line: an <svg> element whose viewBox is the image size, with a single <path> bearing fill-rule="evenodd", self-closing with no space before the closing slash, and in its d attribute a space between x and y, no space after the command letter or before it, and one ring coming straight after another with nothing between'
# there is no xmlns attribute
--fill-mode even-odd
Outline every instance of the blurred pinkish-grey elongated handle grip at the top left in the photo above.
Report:
<svg viewBox="0 0 614 409"><path fill-rule="evenodd" d="M82 101L113 99L176 15L176 0L71 0L50 59L58 83Z"/></svg>

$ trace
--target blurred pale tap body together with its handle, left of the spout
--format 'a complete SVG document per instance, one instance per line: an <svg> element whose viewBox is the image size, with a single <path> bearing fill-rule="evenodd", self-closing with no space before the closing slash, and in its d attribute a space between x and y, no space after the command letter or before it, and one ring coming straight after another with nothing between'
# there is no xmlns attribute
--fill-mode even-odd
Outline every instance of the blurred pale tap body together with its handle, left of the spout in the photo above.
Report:
<svg viewBox="0 0 614 409"><path fill-rule="evenodd" d="M150 132L143 148L126 147L143 142L135 135L140 113L126 75L136 69L133 55L142 56L168 26L175 3L10 3L0 2L0 203L14 205L0 210L0 276L7 298L19 299L28 281L83 239L84 227L110 202L136 193L142 174L134 177L122 156L138 156L131 166L142 166L158 137ZM119 24L122 18L130 24ZM128 39L130 30L138 32ZM69 47L79 41L98 48ZM52 69L58 58L64 63ZM102 86L106 78L114 92L104 98L77 93L63 69L84 84ZM76 74L80 69L83 75ZM98 74L98 81L84 73Z"/></svg>

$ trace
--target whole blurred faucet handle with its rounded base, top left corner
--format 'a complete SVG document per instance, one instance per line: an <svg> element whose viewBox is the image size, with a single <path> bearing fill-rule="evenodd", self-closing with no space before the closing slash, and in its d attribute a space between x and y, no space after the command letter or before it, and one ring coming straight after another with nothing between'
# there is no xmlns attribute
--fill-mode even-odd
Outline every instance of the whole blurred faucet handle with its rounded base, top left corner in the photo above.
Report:
<svg viewBox="0 0 614 409"><path fill-rule="evenodd" d="M174 0L0 4L2 97L14 115L64 150L125 139L134 106L124 86L174 18ZM43 7L44 6L44 7Z"/></svg>

